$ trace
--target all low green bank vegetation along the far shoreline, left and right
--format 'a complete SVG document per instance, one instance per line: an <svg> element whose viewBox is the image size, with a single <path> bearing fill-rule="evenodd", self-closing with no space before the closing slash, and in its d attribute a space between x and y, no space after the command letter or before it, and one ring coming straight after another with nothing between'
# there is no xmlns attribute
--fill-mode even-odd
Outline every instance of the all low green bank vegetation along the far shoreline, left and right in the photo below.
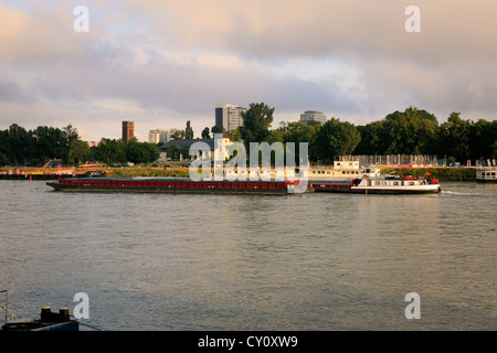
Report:
<svg viewBox="0 0 497 353"><path fill-rule="evenodd" d="M7 173L9 170L15 169L0 168L0 173ZM39 168L18 167L20 172L32 173ZM102 170L102 169L101 169ZM87 169L75 168L76 173L84 173ZM45 172L57 172L56 168L45 169ZM170 178L188 178L189 168L186 167L120 167L106 169L107 176L136 178L136 176L170 176ZM437 179L440 181L475 181L476 167L423 167L423 168L383 168L382 174L396 174L399 176L416 176ZM427 174L430 173L430 174Z"/></svg>

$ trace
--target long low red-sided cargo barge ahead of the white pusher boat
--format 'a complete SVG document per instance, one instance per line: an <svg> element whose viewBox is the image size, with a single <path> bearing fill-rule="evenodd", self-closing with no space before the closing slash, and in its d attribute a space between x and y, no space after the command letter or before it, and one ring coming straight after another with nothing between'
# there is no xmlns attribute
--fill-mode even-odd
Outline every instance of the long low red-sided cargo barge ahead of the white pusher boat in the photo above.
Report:
<svg viewBox="0 0 497 353"><path fill-rule="evenodd" d="M186 178L72 178L47 182L63 192L288 194L288 181L193 181Z"/></svg>

